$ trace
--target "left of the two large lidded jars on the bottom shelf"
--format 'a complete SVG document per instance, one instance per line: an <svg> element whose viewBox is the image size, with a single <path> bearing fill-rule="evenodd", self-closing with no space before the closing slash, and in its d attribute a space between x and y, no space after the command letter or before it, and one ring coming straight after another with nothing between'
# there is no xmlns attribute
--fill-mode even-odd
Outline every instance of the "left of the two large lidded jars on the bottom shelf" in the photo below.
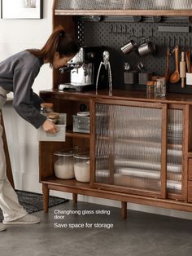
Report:
<svg viewBox="0 0 192 256"><path fill-rule="evenodd" d="M54 163L55 176L59 179L74 179L74 165L72 149L54 152L56 161Z"/></svg>

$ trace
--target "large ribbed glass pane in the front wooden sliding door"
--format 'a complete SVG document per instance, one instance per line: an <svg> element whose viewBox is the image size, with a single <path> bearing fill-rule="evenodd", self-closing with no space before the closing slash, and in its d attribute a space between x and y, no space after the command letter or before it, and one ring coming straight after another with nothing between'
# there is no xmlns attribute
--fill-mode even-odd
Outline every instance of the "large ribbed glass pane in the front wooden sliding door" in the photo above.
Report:
<svg viewBox="0 0 192 256"><path fill-rule="evenodd" d="M160 190L161 113L96 104L96 182Z"/></svg>

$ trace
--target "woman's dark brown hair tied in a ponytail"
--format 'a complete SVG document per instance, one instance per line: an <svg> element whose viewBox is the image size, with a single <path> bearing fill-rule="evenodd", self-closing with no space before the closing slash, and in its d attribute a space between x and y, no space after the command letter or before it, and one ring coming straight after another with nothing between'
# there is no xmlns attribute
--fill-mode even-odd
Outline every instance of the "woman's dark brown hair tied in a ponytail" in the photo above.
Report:
<svg viewBox="0 0 192 256"><path fill-rule="evenodd" d="M46 60L53 64L55 52L59 52L59 56L76 55L80 50L76 40L69 33L65 33L62 26L57 27L46 44L40 50L28 49L31 54Z"/></svg>

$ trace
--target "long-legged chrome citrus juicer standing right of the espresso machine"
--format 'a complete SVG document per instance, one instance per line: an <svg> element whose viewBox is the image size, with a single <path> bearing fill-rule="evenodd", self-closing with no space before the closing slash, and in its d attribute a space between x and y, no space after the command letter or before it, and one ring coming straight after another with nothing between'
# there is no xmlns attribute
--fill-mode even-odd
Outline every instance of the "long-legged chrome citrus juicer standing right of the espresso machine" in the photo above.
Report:
<svg viewBox="0 0 192 256"><path fill-rule="evenodd" d="M109 80L109 95L112 95L112 77L111 77L111 65L109 62L109 52L104 51L103 52L103 61L101 61L99 68L98 68L98 75L97 75L97 80L96 80L96 94L98 94L98 77L101 72L102 65L105 66L105 69L108 72L108 80Z"/></svg>

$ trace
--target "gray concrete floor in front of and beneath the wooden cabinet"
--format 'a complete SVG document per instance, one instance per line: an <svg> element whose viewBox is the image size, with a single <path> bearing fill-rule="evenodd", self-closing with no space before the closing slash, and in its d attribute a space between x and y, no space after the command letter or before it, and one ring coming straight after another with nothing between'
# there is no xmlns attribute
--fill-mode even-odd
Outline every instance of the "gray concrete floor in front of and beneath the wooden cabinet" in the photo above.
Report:
<svg viewBox="0 0 192 256"><path fill-rule="evenodd" d="M79 210L78 214L58 214L55 210ZM92 210L94 214L83 214ZM96 214L110 211L110 215ZM41 223L9 226L0 232L1 256L190 256L192 255L192 221L128 210L128 218L120 217L120 209L72 201L50 208L49 214L36 213ZM55 224L56 223L56 224ZM59 224L68 227L59 227ZM106 227L69 227L85 223L114 225ZM55 227L57 226L57 227Z"/></svg>

